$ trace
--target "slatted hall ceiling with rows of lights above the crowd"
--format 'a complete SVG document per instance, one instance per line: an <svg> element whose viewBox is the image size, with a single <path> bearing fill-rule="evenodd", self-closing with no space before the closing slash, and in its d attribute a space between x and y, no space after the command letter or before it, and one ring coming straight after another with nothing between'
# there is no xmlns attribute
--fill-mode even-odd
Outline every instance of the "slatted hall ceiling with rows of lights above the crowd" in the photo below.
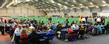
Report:
<svg viewBox="0 0 109 44"><path fill-rule="evenodd" d="M15 0L16 3L28 3L40 10L69 10L83 8L103 8L109 7L109 0ZM2 3L0 1L0 3Z"/></svg>

